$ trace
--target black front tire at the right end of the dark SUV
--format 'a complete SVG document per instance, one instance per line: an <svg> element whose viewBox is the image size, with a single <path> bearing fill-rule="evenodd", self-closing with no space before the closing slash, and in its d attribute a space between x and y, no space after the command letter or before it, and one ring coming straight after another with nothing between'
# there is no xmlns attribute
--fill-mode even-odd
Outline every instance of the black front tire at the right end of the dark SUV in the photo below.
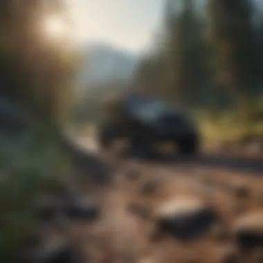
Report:
<svg viewBox="0 0 263 263"><path fill-rule="evenodd" d="M199 153L199 138L187 136L177 142L180 155L194 156Z"/></svg>

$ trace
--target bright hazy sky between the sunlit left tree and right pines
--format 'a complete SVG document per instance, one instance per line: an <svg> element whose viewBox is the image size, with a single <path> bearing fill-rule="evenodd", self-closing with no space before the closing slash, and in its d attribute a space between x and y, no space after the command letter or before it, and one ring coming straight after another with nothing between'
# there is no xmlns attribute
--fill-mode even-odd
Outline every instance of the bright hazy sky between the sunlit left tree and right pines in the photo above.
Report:
<svg viewBox="0 0 263 263"><path fill-rule="evenodd" d="M161 24L163 0L67 0L78 42L141 51Z"/></svg>

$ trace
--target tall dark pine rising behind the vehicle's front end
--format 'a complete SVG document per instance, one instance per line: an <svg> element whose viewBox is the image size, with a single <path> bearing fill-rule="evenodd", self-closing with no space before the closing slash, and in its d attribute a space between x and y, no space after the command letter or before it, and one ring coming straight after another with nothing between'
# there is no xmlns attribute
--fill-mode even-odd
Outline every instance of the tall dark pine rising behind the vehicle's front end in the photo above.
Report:
<svg viewBox="0 0 263 263"><path fill-rule="evenodd" d="M190 107L205 80L202 25L192 0L182 1L181 12L171 10L167 1L167 82L176 102Z"/></svg>

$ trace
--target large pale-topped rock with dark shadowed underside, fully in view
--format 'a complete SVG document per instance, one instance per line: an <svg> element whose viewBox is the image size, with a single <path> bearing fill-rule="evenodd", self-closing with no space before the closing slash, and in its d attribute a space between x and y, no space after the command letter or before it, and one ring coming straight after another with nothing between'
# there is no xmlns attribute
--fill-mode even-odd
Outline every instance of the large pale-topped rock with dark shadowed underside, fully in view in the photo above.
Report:
<svg viewBox="0 0 263 263"><path fill-rule="evenodd" d="M202 238L217 221L217 213L194 197L176 197L161 205L156 213L157 228L181 241Z"/></svg>

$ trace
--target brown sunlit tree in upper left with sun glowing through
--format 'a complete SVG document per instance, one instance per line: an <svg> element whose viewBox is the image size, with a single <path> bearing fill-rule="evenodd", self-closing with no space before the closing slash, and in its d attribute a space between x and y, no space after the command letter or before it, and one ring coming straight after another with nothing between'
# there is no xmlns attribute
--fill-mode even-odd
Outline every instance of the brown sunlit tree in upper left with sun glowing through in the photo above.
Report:
<svg viewBox="0 0 263 263"><path fill-rule="evenodd" d="M77 65L66 36L63 2L3 0L0 10L1 96L49 123L57 122L66 110L62 98L70 93ZM65 35L55 38L48 19L61 19Z"/></svg>

